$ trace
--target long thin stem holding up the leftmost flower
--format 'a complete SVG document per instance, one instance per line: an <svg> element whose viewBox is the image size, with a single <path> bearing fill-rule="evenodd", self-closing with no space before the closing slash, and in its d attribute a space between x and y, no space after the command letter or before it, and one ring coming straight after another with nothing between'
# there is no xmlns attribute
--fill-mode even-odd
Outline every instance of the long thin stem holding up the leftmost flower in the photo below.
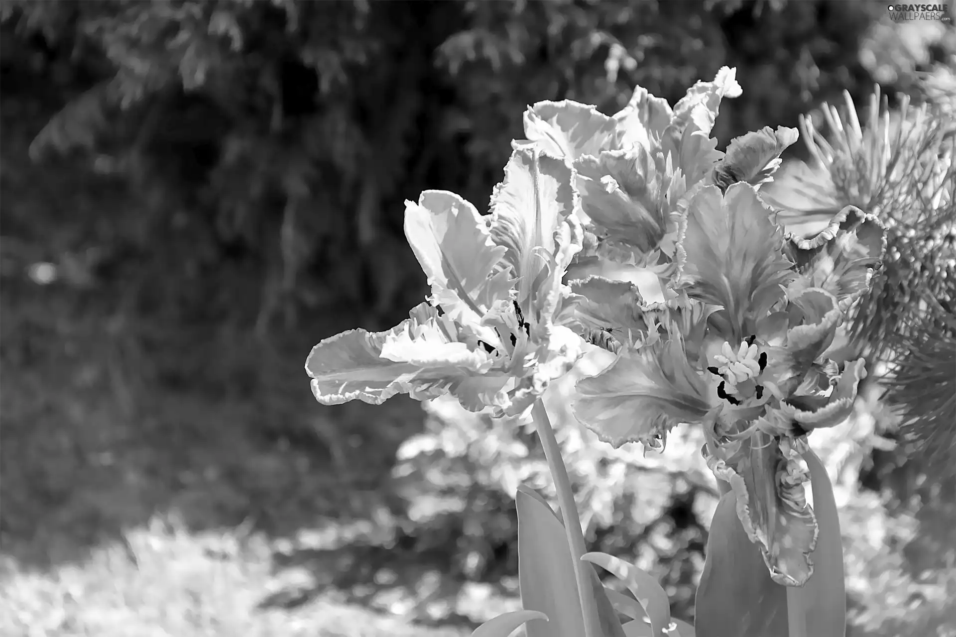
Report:
<svg viewBox="0 0 956 637"><path fill-rule="evenodd" d="M591 577L588 573L591 564L581 560L581 556L587 552L587 549L584 545L584 534L581 532L580 516L577 514L575 494L571 490L571 478L568 478L568 470L564 466L561 449L557 446L557 438L554 437L551 418L548 417L548 412L540 398L534 403L532 417L538 437L541 438L544 457L548 459L551 477L554 479L557 503L561 508L561 518L564 520L564 530L571 548L571 560L575 566L575 579L577 581L577 599L584 616L584 634L586 637L599 637L601 632L597 618L597 602L592 594Z"/></svg>

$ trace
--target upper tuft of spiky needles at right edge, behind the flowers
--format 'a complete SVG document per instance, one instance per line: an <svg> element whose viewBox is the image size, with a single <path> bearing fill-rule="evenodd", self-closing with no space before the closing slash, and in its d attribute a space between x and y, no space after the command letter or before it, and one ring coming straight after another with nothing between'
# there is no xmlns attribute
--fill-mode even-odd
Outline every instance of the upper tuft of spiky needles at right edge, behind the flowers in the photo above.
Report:
<svg viewBox="0 0 956 637"><path fill-rule="evenodd" d="M891 113L877 87L861 126L853 100L844 96L842 117L836 107L822 106L827 136L801 117L814 163L789 166L768 201L794 226L825 220L847 205L880 219L885 269L860 300L851 332L886 357L897 337L912 338L914 329L935 320L916 290L956 308L956 112L942 105L911 107L903 96L899 111Z"/></svg>

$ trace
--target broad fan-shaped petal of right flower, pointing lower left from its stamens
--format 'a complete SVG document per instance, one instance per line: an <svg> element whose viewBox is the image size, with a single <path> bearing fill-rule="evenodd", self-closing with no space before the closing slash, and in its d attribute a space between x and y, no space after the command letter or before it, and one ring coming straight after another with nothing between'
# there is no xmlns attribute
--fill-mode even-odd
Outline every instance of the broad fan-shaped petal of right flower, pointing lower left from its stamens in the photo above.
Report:
<svg viewBox="0 0 956 637"><path fill-rule="evenodd" d="M625 442L656 448L674 425L704 418L711 407L706 392L680 334L672 333L624 351L604 371L577 381L572 411L615 448Z"/></svg>

